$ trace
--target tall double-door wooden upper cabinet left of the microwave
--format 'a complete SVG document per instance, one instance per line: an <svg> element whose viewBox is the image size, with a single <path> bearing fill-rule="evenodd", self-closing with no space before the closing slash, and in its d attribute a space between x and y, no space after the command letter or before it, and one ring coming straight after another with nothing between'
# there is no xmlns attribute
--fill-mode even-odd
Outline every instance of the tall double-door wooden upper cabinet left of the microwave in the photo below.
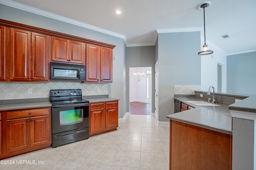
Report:
<svg viewBox="0 0 256 170"><path fill-rule="evenodd" d="M47 81L49 36L10 28L10 80Z"/></svg>

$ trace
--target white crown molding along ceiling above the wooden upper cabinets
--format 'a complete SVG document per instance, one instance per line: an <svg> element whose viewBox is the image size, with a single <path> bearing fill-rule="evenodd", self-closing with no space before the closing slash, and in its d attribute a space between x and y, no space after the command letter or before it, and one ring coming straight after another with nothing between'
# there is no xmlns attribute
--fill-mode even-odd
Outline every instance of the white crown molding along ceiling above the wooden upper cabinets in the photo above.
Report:
<svg viewBox="0 0 256 170"><path fill-rule="evenodd" d="M63 21L63 22L70 23L70 24L73 24L73 25L77 25L77 26L80 26L80 27L84 27L84 28L87 28L87 29L92 29L94 31L98 31L98 32L101 32L101 33L106 33L106 34L112 35L114 37L125 39L125 35L115 33L115 32L112 32L112 31L109 31L109 30L106 30L106 29L102 29L100 27L95 27L93 25L83 23L83 22L80 22L80 21L72 20L70 18L59 16L59 15L56 15L56 14L53 14L53 13L50 13L50 12L46 12L46 11L43 11L43 10L40 10L40 9L37 9L37 8L27 6L27 5L23 5L23 4L20 4L18 2L13 2L13 1L10 1L10 0L0 0L0 4L10 6L10 7L13 7L13 8L17 8L17 9L20 9L20 10L24 10L24 11L27 11L27 12L31 12L31 13L34 13L34 14L38 14L40 16L45 16L45 17L52 18L52 19L55 19L55 20Z"/></svg>

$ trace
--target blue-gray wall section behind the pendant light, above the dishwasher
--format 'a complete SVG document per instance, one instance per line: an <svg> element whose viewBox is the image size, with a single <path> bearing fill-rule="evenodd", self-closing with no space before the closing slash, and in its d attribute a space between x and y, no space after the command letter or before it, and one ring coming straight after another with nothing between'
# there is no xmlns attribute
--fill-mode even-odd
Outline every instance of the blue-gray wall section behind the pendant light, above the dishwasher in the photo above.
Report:
<svg viewBox="0 0 256 170"><path fill-rule="evenodd" d="M159 121L174 113L174 85L200 85L200 32L158 34Z"/></svg>

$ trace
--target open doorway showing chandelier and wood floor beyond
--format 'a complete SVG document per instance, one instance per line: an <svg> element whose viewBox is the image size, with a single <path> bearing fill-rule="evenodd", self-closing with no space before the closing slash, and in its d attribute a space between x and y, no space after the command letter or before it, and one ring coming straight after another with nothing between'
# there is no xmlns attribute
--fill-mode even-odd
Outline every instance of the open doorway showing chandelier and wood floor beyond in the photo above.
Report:
<svg viewBox="0 0 256 170"><path fill-rule="evenodd" d="M136 78L134 74L140 74ZM130 114L152 114L152 67L131 67L129 70Z"/></svg>

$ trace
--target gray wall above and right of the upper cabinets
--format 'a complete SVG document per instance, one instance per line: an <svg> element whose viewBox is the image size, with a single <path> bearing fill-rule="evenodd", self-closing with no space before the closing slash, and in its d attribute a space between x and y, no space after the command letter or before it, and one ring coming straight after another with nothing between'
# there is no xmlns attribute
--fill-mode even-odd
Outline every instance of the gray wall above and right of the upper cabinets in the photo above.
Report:
<svg viewBox="0 0 256 170"><path fill-rule="evenodd" d="M116 47L113 49L113 83L108 84L108 95L112 98L120 99L119 118L124 117L124 114L126 113L126 46L124 39L2 4L0 4L0 18L116 45Z"/></svg>

